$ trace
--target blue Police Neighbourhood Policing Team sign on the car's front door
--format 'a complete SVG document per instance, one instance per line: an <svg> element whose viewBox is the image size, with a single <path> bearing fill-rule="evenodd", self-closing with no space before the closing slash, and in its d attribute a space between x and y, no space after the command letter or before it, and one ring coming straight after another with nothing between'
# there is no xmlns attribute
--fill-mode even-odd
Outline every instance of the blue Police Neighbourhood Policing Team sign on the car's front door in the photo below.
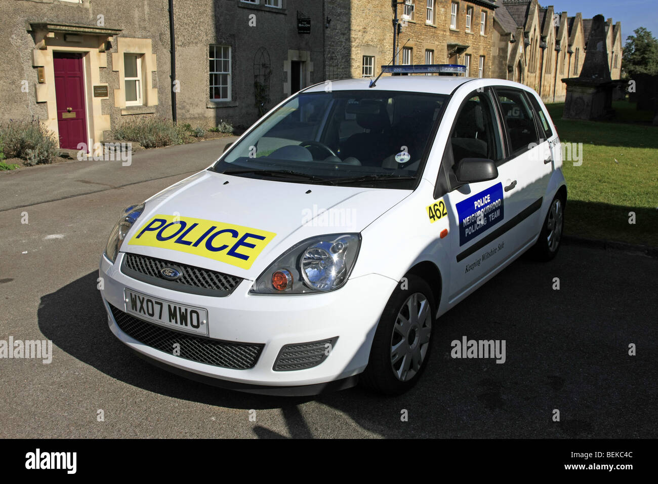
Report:
<svg viewBox="0 0 658 484"><path fill-rule="evenodd" d="M461 247L503 220L503 184L490 186L457 203L457 215Z"/></svg>

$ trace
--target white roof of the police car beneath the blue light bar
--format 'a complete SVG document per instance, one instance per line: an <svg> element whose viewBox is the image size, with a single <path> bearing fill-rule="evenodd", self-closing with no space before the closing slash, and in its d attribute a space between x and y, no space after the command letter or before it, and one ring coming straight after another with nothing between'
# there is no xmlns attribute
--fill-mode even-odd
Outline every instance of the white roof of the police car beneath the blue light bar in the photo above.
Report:
<svg viewBox="0 0 658 484"><path fill-rule="evenodd" d="M330 90L333 91L358 91L358 90L369 90L370 81L374 78L363 78L363 79L341 79L341 80L332 80L324 81L309 88L306 88L302 92L327 92L328 83L330 82ZM375 91L397 91L397 92L423 92L429 94L452 94L455 89L459 88L462 84L465 84L469 81L485 81L488 86L509 86L514 88L519 88L532 92L532 89L518 82L513 82L503 79L492 79L492 78L472 78L472 77L461 77L461 76L422 76L422 75L413 75L413 76L382 76L376 82L374 88L371 88L373 92Z"/></svg>

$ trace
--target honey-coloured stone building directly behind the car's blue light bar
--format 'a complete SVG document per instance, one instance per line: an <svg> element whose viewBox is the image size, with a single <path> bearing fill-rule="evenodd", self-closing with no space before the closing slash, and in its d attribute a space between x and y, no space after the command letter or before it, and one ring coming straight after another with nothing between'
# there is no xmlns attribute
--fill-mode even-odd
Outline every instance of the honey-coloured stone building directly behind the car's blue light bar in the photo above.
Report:
<svg viewBox="0 0 658 484"><path fill-rule="evenodd" d="M406 0L397 5L396 64L465 64L470 76L490 76L494 8L489 0ZM392 60L389 0L326 0L325 14L331 20L325 33L328 78L377 76Z"/></svg>

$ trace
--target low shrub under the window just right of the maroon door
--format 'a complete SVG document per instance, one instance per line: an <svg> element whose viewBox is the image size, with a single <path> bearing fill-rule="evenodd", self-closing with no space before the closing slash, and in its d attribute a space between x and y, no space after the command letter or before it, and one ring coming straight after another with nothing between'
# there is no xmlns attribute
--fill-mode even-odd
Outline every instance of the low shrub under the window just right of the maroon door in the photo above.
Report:
<svg viewBox="0 0 658 484"><path fill-rule="evenodd" d="M120 141L134 141L144 148L159 148L182 144L189 139L183 126L175 126L168 119L141 117L124 121L114 128L113 136Z"/></svg>

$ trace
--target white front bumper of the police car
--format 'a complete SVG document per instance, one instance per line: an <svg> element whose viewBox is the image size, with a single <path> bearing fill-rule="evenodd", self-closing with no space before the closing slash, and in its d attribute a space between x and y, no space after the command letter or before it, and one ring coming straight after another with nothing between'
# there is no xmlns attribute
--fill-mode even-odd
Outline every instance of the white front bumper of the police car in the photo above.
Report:
<svg viewBox="0 0 658 484"><path fill-rule="evenodd" d="M99 275L103 278L101 295L114 335L132 350L174 373L201 381L217 381L220 387L259 393L272 393L270 387L299 387L309 394L333 382L330 388L350 386L353 377L365 369L379 317L396 281L370 274L350 279L342 288L322 294L263 296L249 294L253 281L244 280L223 298L190 294L153 286L128 277L120 271L123 253L113 264L101 257ZM208 310L209 338L228 342L263 344L255 365L249 369L231 369L210 365L147 346L124 333L113 317L111 306L125 310L124 288L147 296L179 302ZM154 324L154 323L149 323ZM319 365L296 371L274 371L280 350L288 344L328 340L338 336L336 345ZM193 375L190 375L192 373ZM302 389L301 387L307 387ZM276 389L272 389L276 390Z"/></svg>

